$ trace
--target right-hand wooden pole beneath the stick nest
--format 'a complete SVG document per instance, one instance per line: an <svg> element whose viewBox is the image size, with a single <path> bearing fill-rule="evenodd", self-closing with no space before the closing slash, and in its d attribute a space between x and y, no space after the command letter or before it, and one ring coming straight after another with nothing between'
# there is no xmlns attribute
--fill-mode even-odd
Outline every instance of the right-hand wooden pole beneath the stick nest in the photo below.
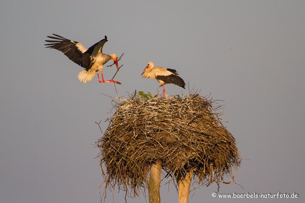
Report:
<svg viewBox="0 0 305 203"><path fill-rule="evenodd" d="M187 172L185 178L183 177L181 171L178 172L176 180L178 184L179 203L188 203L188 195L190 194L192 177L193 177L193 170Z"/></svg>

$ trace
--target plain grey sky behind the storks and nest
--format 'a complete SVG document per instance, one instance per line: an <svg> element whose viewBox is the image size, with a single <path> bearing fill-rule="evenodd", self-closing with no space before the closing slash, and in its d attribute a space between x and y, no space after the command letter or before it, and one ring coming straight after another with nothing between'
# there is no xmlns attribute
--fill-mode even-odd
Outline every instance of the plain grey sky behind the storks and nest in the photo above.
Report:
<svg viewBox="0 0 305 203"><path fill-rule="evenodd" d="M115 77L120 96L157 91L156 80L141 78L152 61L179 72L184 95L189 83L224 100L222 118L249 160L235 176L245 190L221 184L219 194L300 196L220 199L212 197L213 184L189 202L304 202L304 11L304 1L1 1L0 202L100 201L102 171L92 144L102 134L95 121L105 131L112 105L100 93L117 93L97 77L80 82L80 66L44 48L52 33L87 48L106 35L105 54L124 52ZM111 79L114 66L103 73ZM161 201L178 202L166 182ZM107 191L106 202L112 201ZM124 192L115 190L114 201L124 202Z"/></svg>

